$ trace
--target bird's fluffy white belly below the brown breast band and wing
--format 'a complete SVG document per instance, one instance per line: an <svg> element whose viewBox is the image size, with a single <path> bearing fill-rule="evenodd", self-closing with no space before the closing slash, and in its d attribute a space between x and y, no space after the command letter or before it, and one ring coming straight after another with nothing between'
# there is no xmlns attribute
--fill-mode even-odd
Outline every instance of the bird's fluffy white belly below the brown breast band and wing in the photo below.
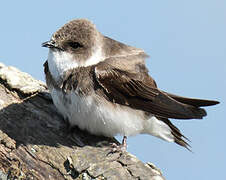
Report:
<svg viewBox="0 0 226 180"><path fill-rule="evenodd" d="M55 89L51 95L57 109L72 126L77 125L92 134L130 136L144 130L144 115L141 111L112 104L96 95L80 97L74 92L63 94Z"/></svg>

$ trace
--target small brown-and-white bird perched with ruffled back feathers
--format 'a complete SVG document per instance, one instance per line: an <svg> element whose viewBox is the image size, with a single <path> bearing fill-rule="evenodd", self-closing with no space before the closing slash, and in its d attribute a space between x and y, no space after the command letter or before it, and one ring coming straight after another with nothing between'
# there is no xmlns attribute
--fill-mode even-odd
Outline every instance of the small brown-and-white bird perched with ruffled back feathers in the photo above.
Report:
<svg viewBox="0 0 226 180"><path fill-rule="evenodd" d="M160 90L145 65L144 50L101 34L88 19L74 19L51 39L44 63L46 84L70 126L94 135L149 134L190 149L188 138L169 120L202 119L202 106L219 102Z"/></svg>

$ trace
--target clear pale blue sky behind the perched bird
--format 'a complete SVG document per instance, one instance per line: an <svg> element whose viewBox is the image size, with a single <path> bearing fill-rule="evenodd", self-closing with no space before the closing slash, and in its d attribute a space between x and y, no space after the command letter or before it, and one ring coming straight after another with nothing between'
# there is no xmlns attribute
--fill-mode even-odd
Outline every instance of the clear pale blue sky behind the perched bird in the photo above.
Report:
<svg viewBox="0 0 226 180"><path fill-rule="evenodd" d="M149 135L129 138L128 151L154 163L168 180L226 179L226 1L2 1L0 62L44 81L48 51L41 43L75 18L143 48L159 88L221 102L207 108L203 120L172 120L194 153Z"/></svg>

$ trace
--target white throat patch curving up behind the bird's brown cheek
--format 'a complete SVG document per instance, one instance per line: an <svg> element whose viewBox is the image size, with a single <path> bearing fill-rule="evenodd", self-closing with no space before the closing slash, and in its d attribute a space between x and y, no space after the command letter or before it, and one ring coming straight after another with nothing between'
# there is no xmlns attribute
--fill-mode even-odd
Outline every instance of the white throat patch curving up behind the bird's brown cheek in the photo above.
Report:
<svg viewBox="0 0 226 180"><path fill-rule="evenodd" d="M86 61L80 62L74 59L74 56L66 51L54 51L49 49L48 66L51 75L56 82L59 82L66 71L77 67L87 67L98 64L105 58L102 53L102 48L97 48L92 56Z"/></svg>

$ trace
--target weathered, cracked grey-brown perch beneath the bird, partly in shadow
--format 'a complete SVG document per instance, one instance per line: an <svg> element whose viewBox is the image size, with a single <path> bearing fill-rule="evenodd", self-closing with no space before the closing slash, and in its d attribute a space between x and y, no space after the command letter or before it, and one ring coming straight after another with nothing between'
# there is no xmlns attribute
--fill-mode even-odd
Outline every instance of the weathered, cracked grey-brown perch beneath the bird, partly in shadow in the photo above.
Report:
<svg viewBox="0 0 226 180"><path fill-rule="evenodd" d="M164 179L130 153L109 154L113 142L69 133L45 84L0 63L1 179Z"/></svg>

